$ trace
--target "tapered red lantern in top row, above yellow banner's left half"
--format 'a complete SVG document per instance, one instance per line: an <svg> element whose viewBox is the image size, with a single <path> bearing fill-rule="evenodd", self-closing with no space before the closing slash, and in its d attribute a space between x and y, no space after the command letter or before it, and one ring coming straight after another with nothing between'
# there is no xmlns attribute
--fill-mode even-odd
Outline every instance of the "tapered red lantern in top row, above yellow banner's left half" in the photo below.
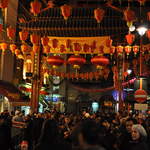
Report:
<svg viewBox="0 0 150 150"><path fill-rule="evenodd" d="M67 20L71 15L71 6L65 4L61 6L60 9L64 19Z"/></svg>

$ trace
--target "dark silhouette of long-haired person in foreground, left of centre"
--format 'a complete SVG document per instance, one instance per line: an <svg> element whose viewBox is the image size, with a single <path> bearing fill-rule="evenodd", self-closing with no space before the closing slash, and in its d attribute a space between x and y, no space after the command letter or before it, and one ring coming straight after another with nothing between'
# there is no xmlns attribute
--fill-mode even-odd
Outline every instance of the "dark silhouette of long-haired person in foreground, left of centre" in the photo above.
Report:
<svg viewBox="0 0 150 150"><path fill-rule="evenodd" d="M34 150L71 150L71 146L60 138L55 120L46 120L42 127L39 143Z"/></svg>

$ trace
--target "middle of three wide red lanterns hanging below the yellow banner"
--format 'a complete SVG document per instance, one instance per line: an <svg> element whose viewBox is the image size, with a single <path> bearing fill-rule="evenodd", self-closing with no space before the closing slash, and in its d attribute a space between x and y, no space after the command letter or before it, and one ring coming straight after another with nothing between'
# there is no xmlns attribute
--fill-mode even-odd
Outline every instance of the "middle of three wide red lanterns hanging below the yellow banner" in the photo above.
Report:
<svg viewBox="0 0 150 150"><path fill-rule="evenodd" d="M68 63L73 65L74 69L80 69L80 66L86 63L86 59L80 55L72 55L69 57Z"/></svg>

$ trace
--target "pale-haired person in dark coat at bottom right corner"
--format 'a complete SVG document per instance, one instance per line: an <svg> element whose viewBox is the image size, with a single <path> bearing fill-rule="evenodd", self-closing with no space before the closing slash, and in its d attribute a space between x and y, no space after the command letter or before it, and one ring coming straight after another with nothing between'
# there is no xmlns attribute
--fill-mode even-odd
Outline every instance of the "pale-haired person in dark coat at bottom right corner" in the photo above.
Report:
<svg viewBox="0 0 150 150"><path fill-rule="evenodd" d="M132 126L132 141L129 143L128 150L148 150L146 144L147 133L144 127L140 124Z"/></svg>

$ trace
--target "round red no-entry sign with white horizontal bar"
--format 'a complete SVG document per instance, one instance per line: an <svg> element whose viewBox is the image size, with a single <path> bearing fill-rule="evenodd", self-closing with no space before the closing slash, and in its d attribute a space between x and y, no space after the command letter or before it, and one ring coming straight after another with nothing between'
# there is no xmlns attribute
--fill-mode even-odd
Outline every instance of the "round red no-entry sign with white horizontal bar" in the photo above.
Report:
<svg viewBox="0 0 150 150"><path fill-rule="evenodd" d="M135 100L139 103L143 103L147 100L147 93L142 89L138 89L134 93Z"/></svg>

